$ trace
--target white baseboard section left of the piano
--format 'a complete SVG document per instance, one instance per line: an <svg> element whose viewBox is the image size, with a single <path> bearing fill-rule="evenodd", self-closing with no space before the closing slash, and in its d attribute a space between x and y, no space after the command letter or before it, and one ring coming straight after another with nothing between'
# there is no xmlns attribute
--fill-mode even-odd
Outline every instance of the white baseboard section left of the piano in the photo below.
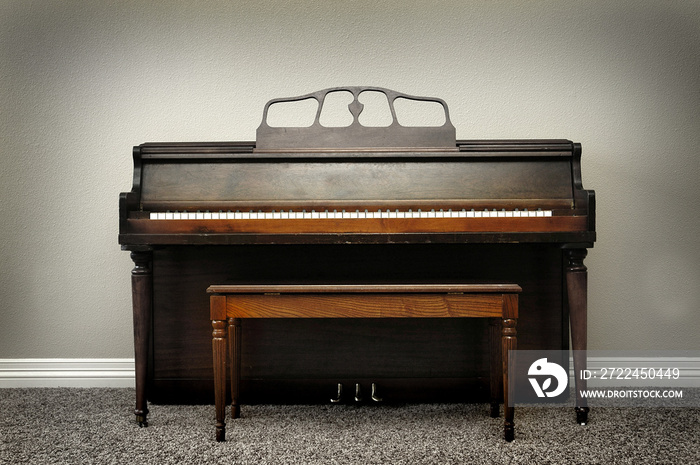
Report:
<svg viewBox="0 0 700 465"><path fill-rule="evenodd" d="M0 359L0 388L133 388L133 358Z"/></svg>

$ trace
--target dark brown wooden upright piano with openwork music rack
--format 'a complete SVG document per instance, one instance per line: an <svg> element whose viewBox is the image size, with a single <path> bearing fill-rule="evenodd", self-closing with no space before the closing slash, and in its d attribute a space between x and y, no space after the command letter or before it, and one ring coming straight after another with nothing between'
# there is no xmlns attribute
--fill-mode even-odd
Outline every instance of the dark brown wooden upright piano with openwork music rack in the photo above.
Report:
<svg viewBox="0 0 700 465"><path fill-rule="evenodd" d="M351 95L344 127L320 122L335 93ZM365 93L386 98L390 123L361 124ZM273 105L301 101L317 104L311 125L268 123ZM439 105L444 121L402 125L399 101ZM456 140L440 99L344 87L271 100L256 142L146 143L133 161L119 243L135 264L142 425L147 401L213 402L212 283L509 281L523 289L519 348L568 349L569 321L573 348L586 348L595 196L578 143ZM327 402L344 384L350 402L486 398L487 326L248 320L241 397ZM370 385L381 392L363 396Z"/></svg>

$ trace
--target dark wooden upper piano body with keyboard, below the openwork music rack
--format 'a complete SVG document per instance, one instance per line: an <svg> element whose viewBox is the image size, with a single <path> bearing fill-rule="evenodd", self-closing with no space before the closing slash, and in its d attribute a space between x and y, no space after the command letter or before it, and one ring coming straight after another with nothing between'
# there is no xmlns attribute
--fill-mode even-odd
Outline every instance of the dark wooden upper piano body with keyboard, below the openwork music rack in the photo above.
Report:
<svg viewBox="0 0 700 465"><path fill-rule="evenodd" d="M580 146L570 141L275 153L151 143L135 148L134 165L134 189L122 194L126 248L595 241L593 192L580 185Z"/></svg>

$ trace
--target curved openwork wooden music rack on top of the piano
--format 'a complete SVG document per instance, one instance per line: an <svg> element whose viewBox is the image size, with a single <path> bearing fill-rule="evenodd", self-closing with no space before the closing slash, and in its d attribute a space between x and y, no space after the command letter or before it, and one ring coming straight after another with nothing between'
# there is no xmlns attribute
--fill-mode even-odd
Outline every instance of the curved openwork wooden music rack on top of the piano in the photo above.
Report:
<svg viewBox="0 0 700 465"><path fill-rule="evenodd" d="M353 96L348 110L352 122L344 127L326 127L320 122L321 113L329 94L349 92ZM392 122L388 126L364 126L359 117L364 109L359 97L364 92L379 92L386 96ZM268 124L272 105L313 99L317 102L314 122L308 127L273 127ZM434 102L442 106L445 122L441 126L402 126L396 116L397 99L414 102ZM262 123L256 135L256 152L345 151L357 149L455 151L455 127L450 121L447 104L434 97L416 97L381 87L333 87L298 97L270 100L263 110Z"/></svg>

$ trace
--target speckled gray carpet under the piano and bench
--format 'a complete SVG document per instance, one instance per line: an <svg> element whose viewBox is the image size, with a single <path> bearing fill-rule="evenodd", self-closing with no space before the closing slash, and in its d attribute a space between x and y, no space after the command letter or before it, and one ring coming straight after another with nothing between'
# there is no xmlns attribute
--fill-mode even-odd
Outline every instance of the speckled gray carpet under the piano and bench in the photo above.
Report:
<svg viewBox="0 0 700 465"><path fill-rule="evenodd" d="M698 463L700 409L516 410L516 437L486 404L244 405L214 441L213 406L152 405L133 389L0 389L0 463L469 464Z"/></svg>

